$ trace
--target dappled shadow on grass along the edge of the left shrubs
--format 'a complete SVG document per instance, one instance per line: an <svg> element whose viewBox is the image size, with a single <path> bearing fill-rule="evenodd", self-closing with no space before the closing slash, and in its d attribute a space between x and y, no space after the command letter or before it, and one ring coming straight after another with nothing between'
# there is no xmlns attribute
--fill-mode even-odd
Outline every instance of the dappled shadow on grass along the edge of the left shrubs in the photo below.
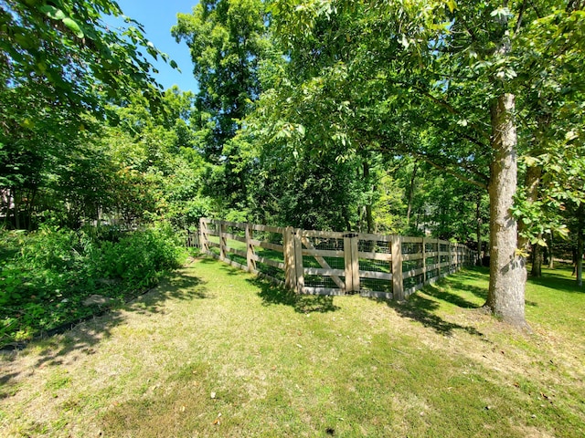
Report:
<svg viewBox="0 0 585 438"><path fill-rule="evenodd" d="M76 356L81 354L93 354L95 347L103 339L112 336L112 328L125 321L128 312L143 315L165 314L162 304L167 299L192 300L213 297L208 294L205 282L196 276L189 276L186 269L178 269L163 279L158 286L127 303L114 305L112 308L107 305L98 307L91 317L48 330L37 339L18 347L39 350L36 368L58 366L66 360L76 360ZM5 374L0 381L3 390L0 391L0 399L11 391L8 383L25 371L12 366L19 354L23 354L19 349L0 350L0 363L5 368Z"/></svg>

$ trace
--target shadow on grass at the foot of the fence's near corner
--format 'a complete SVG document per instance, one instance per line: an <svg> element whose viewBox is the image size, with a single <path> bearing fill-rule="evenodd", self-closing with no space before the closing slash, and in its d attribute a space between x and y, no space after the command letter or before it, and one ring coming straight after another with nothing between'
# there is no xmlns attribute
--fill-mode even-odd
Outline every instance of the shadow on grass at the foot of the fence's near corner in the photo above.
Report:
<svg viewBox="0 0 585 438"><path fill-rule="evenodd" d="M263 278L255 277L248 280L250 284L258 287L259 297L264 306L284 305L294 308L298 313L326 313L335 312L339 307L334 304L334 297L329 295L299 295L292 290L276 286Z"/></svg>

